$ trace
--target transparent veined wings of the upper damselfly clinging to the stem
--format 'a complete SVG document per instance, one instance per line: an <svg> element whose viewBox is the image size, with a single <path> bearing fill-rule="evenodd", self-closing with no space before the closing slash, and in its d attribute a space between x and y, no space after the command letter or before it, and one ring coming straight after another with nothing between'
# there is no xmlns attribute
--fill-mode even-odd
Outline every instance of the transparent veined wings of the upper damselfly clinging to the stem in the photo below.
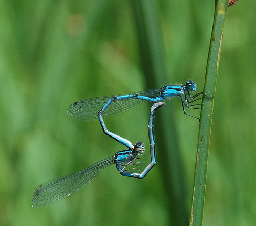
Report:
<svg viewBox="0 0 256 226"><path fill-rule="evenodd" d="M158 97L161 94L162 89L148 89L146 91L140 91L136 93L132 93L134 95L146 96L146 97ZM98 112L101 108L113 97L120 97L127 94L120 94L115 96L108 97L98 97L87 100L82 100L73 103L67 110L67 114L75 119L80 120L96 120ZM111 117L115 115L119 115L127 110L130 110L139 104L144 102L141 99L129 98L113 101L108 108L106 108L104 114L102 115L104 118Z"/></svg>

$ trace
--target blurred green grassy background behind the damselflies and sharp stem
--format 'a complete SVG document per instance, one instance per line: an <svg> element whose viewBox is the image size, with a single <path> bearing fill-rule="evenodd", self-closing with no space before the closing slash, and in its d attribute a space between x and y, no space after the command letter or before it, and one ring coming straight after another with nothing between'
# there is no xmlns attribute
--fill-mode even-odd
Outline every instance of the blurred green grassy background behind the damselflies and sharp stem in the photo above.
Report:
<svg viewBox="0 0 256 226"><path fill-rule="evenodd" d="M157 164L145 179L122 177L113 165L71 197L31 206L39 184L125 149L103 134L98 121L67 116L74 101L187 79L203 90L214 1L153 3L154 17L147 17L136 1L1 1L0 225L188 223L199 124L183 114L179 98L166 100L156 114ZM239 1L227 12L204 225L256 221L255 6ZM140 34L140 24L151 21L162 47L156 48L163 59L156 72L151 61L145 64L143 57L155 55L145 54ZM133 144L144 141L147 158L149 110L143 103L105 120Z"/></svg>

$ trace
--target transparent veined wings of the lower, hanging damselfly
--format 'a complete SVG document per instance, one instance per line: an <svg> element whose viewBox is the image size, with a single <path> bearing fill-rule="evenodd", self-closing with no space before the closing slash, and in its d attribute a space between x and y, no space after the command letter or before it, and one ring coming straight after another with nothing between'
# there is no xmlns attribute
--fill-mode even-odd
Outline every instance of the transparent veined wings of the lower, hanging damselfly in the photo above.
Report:
<svg viewBox="0 0 256 226"><path fill-rule="evenodd" d="M39 185L33 195L32 206L54 204L88 184L102 169L114 164L114 156L101 160L86 169Z"/></svg>

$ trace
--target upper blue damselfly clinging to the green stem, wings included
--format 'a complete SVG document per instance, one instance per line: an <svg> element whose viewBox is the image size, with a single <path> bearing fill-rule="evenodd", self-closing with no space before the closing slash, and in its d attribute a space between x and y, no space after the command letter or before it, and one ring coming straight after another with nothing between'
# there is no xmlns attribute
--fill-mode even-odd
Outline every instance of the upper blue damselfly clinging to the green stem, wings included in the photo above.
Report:
<svg viewBox="0 0 256 226"><path fill-rule="evenodd" d="M150 89L146 91L140 91L133 94L115 95L108 97L98 97L87 100L74 102L67 110L67 114L75 119L80 120L95 120L99 118L103 132L115 139L119 143L125 145L129 149L133 149L133 145L130 141L121 138L119 135L110 132L103 121L103 117L110 117L121 114L127 110L130 110L143 101L147 100L152 103L158 103L164 101L166 98L180 97L183 111L186 115L197 118L195 116L187 114L185 107L195 108L192 106L200 105L193 104L188 105L201 98L195 99L202 92L191 96L190 92L196 90L196 84L193 81L186 81L186 85L166 85L159 89ZM182 96L184 95L184 97ZM199 119L199 118L197 118Z"/></svg>

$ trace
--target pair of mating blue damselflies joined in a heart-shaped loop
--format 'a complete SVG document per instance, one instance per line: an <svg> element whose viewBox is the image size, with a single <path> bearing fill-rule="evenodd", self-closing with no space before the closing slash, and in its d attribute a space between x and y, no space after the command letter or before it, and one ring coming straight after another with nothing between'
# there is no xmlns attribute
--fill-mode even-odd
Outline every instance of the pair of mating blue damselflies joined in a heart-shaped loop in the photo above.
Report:
<svg viewBox="0 0 256 226"><path fill-rule="evenodd" d="M89 183L99 173L99 171L112 164L116 164L117 170L123 176L143 179L156 163L154 137L154 121L156 110L165 105L163 101L166 98L180 97L184 113L188 116L197 118L187 114L185 110L185 107L200 109L193 107L200 104L189 105L190 103L201 99L196 99L196 97L203 94L202 92L191 96L190 92L194 92L195 90L195 83L189 80L186 82L186 85L167 85L160 89L150 89L132 94L99 97L74 102L68 108L67 114L69 116L79 120L96 120L98 118L103 132L119 143L125 145L128 149L119 151L115 153L114 156L99 161L86 169L61 178L50 180L49 182L39 185L33 195L32 206L47 206L70 196L84 185ZM184 95L184 97L182 95ZM126 167L142 163L134 163L134 161L136 158L138 159L139 155L143 155L143 152L145 151L144 144L142 142L137 142L133 146L129 140L110 132L105 126L103 117L110 117L121 114L122 112L138 106L145 100L153 103L150 111L150 119L148 121L148 137L150 140L151 163L147 165L142 173L134 173L129 171L136 168L126 170Z"/></svg>

